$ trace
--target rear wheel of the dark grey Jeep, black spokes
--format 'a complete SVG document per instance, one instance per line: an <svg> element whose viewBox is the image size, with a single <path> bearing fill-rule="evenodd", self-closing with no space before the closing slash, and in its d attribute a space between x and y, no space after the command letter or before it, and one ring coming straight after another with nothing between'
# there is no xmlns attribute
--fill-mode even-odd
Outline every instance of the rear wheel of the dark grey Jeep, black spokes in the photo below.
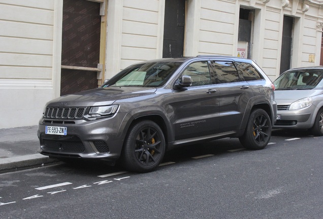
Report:
<svg viewBox="0 0 323 219"><path fill-rule="evenodd" d="M246 130L239 138L246 149L261 150L266 148L271 136L271 121L264 109L251 112Z"/></svg>

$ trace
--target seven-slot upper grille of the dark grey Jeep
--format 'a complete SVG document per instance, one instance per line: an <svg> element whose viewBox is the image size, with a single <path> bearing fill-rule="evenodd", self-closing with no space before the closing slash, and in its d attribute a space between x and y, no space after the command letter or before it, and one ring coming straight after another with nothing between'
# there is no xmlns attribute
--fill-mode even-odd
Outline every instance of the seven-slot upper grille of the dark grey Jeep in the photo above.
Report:
<svg viewBox="0 0 323 219"><path fill-rule="evenodd" d="M85 107L47 107L44 118L47 119L82 119Z"/></svg>

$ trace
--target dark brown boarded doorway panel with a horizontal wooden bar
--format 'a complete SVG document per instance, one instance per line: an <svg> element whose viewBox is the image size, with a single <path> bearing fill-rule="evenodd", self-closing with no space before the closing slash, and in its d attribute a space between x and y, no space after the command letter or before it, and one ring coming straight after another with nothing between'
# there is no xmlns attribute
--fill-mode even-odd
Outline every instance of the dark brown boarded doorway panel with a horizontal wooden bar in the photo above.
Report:
<svg viewBox="0 0 323 219"><path fill-rule="evenodd" d="M98 87L100 33L100 3L63 0L60 95Z"/></svg>

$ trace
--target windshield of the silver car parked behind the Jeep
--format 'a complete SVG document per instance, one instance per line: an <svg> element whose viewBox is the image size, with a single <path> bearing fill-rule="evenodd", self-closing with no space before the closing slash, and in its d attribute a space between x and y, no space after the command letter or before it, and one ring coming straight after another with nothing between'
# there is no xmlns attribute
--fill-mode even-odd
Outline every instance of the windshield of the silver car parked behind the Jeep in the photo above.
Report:
<svg viewBox="0 0 323 219"><path fill-rule="evenodd" d="M323 69L299 69L287 71L279 76L274 85L276 90L312 90L323 88Z"/></svg>

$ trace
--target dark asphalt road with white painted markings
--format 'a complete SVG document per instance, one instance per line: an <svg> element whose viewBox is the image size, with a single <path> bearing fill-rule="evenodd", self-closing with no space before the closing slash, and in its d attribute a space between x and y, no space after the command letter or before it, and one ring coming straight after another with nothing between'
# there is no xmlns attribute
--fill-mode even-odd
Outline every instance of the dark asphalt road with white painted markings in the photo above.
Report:
<svg viewBox="0 0 323 219"><path fill-rule="evenodd" d="M1 218L323 218L322 141L275 130L264 150L225 138L145 174L101 162L3 173Z"/></svg>

